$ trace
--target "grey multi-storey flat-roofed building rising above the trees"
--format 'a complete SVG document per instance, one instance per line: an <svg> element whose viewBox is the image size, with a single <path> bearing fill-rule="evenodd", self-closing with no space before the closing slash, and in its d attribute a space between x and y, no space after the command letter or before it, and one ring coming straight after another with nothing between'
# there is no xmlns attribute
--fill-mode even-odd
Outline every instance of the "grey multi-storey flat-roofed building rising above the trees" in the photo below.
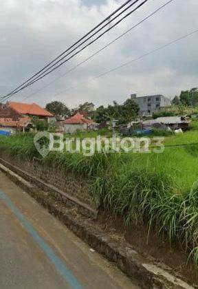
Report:
<svg viewBox="0 0 198 289"><path fill-rule="evenodd" d="M139 105L141 116L149 116L162 109L162 107L170 107L171 105L170 99L161 94L141 97L131 94L131 99L135 100L135 103Z"/></svg>

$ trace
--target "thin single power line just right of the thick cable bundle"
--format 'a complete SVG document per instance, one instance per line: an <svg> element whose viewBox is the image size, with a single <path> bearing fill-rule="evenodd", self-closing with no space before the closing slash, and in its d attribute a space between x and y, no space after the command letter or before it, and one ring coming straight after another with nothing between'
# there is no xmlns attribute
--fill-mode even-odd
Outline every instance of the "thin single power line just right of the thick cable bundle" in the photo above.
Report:
<svg viewBox="0 0 198 289"><path fill-rule="evenodd" d="M117 38L115 38L113 41L111 41L110 43L108 43L107 45L103 46L102 48L100 48L100 50L96 51L94 54L91 54L91 56L87 57L84 61L78 63L77 65L75 65L74 67L72 67L71 69L69 69L67 72L65 72L64 74L62 74L61 76L58 76L57 78L55 78L53 81L51 81L50 83L48 83L47 85L45 85L44 87L41 87L41 89L37 90L36 92L34 92L33 94L30 94L29 96L23 98L23 100L26 100L28 98L30 98L31 96L34 96L35 94L37 94L38 92L41 92L43 89L45 89L46 87L49 87L52 83L55 83L56 81L58 81L58 79L62 78L63 76L73 72L76 68L78 68L80 65L83 65L84 63L86 63L87 61L89 61L91 58L94 58L94 56L96 56L97 54L99 54L100 52L102 52L103 50L105 50L107 47L109 47L111 44L115 43L116 41L118 41L119 39L121 39L124 35L126 35L127 33L131 32L131 30L133 30L134 28L136 28L138 25L142 24L144 21L150 19L151 17L153 17L154 14L156 14L157 12L159 12L160 10L162 10L163 8L165 8L169 3L173 2L175 0L169 0L168 2L164 3L164 5L160 6L159 8L157 8L157 10L155 10L154 12L152 12L151 14L149 14L147 17L144 17L144 19L142 19L142 21L139 21L138 23L136 23L135 25L133 25L130 29L126 30L126 32L122 33L120 36L118 36Z"/></svg>

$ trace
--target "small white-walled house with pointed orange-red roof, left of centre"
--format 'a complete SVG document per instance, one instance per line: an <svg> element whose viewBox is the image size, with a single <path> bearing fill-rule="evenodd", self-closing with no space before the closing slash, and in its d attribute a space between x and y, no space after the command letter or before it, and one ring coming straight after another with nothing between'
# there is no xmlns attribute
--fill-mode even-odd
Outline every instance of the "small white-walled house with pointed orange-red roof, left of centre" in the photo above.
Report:
<svg viewBox="0 0 198 289"><path fill-rule="evenodd" d="M76 131L87 131L88 129L95 129L96 123L93 120L85 118L83 114L75 114L72 118L67 118L63 122L64 131L66 133L75 133Z"/></svg>

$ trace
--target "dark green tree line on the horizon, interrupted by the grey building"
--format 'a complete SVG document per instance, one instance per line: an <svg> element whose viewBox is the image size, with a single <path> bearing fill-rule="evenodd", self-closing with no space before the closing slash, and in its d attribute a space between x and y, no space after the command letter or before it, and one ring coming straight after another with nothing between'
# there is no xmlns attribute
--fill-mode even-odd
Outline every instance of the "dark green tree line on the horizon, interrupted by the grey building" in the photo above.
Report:
<svg viewBox="0 0 198 289"><path fill-rule="evenodd" d="M177 107L198 106L197 87L181 91L179 96L173 98L172 105ZM94 103L86 102L72 109L69 109L65 103L55 100L51 103L47 103L46 109L54 114L57 121L74 116L74 114L78 112L100 124L104 124L111 120L118 120L118 124L126 124L137 118L140 111L139 105L131 98L124 101L121 105L116 101L113 101L113 104L108 105L107 107L104 107L104 105L95 107Z"/></svg>

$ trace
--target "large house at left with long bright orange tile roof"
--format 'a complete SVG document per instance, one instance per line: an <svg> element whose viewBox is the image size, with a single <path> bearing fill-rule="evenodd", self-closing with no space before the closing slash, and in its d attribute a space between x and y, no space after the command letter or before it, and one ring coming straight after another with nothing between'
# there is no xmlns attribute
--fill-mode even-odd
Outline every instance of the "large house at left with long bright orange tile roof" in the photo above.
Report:
<svg viewBox="0 0 198 289"><path fill-rule="evenodd" d="M40 119L50 121L50 118L53 118L53 114L47 109L36 105L36 103L28 104L28 103L15 103L14 101L9 101L6 103L6 107L12 109L20 116L31 117L37 116Z"/></svg>

